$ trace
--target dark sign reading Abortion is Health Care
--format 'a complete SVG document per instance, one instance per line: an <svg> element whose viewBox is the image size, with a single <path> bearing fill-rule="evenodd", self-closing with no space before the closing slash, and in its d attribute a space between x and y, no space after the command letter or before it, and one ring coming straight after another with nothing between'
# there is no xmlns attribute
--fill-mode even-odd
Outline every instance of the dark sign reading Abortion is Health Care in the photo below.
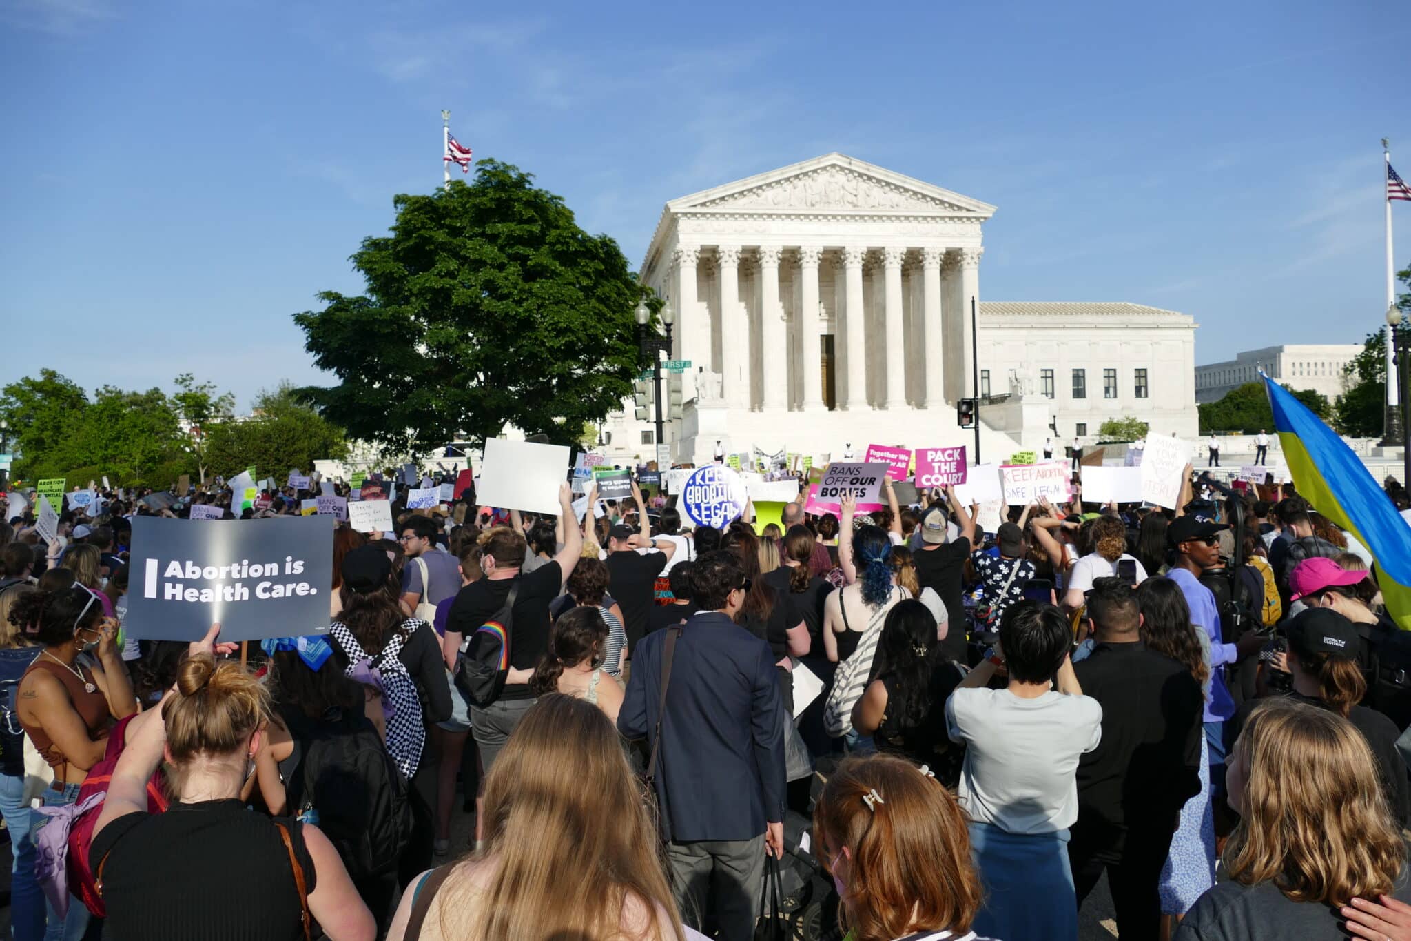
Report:
<svg viewBox="0 0 1411 941"><path fill-rule="evenodd" d="M329 629L332 516L238 519L219 525L138 516L127 587L127 636L222 641Z"/></svg>

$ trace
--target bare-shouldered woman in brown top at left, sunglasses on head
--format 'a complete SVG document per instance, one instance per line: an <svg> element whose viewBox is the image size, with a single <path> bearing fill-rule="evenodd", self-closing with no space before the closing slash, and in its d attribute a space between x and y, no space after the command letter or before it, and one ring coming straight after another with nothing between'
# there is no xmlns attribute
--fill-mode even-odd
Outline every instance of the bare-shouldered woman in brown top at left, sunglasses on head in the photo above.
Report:
<svg viewBox="0 0 1411 941"><path fill-rule="evenodd" d="M20 604L25 611L11 614L35 625L34 639L44 646L20 680L20 724L54 769L44 807L65 807L78 800L89 769L102 760L114 722L137 711L137 697L116 643L117 621L103 617L95 593L73 583L35 591ZM79 653L87 656L80 660ZM45 814L32 814L31 839L48 822ZM49 906L45 938L82 937L87 917L76 897L63 918Z"/></svg>

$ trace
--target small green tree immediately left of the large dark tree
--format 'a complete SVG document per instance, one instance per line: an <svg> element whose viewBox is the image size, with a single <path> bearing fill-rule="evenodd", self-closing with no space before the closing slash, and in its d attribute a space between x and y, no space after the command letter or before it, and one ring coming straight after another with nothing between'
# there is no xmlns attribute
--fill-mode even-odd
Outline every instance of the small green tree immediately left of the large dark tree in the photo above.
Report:
<svg viewBox="0 0 1411 941"><path fill-rule="evenodd" d="M288 382L255 396L248 419L212 425L206 437L207 466L227 477L251 464L261 474L278 477L291 468L312 470L315 460L341 460L347 453L343 429L306 405Z"/></svg>

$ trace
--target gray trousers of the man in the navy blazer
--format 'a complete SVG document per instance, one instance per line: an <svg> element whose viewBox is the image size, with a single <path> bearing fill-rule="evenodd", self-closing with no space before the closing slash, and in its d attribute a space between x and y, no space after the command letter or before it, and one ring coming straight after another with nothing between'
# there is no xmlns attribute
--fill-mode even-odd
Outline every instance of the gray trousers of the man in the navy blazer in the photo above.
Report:
<svg viewBox="0 0 1411 941"><path fill-rule="evenodd" d="M670 842L672 894L682 921L721 938L751 938L765 883L765 835L753 839Z"/></svg>

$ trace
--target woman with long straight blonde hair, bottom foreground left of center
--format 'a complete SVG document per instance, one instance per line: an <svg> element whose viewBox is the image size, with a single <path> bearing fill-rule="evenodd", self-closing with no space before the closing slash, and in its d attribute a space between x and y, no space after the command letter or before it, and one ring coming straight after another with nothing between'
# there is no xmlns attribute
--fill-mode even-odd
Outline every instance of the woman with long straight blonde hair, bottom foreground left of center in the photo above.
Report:
<svg viewBox="0 0 1411 941"><path fill-rule="evenodd" d="M412 880L388 941L697 937L682 927L656 825L598 707L540 697L490 770L483 820L480 849Z"/></svg>

